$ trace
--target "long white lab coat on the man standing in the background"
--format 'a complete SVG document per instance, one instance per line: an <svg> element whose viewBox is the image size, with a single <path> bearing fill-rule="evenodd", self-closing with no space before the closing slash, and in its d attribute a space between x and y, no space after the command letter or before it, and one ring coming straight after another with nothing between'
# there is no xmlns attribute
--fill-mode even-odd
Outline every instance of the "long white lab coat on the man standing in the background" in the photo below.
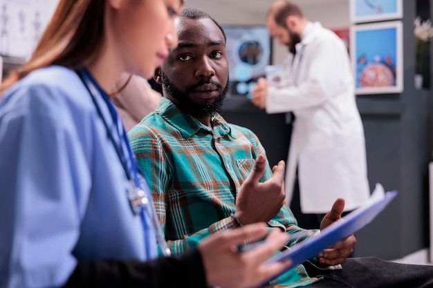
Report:
<svg viewBox="0 0 433 288"><path fill-rule="evenodd" d="M369 198L365 137L356 106L346 46L320 23L309 22L295 57L286 59L284 88L270 86L267 113L295 114L286 167L290 204L296 169L302 213L326 213L336 198L344 211Z"/></svg>

